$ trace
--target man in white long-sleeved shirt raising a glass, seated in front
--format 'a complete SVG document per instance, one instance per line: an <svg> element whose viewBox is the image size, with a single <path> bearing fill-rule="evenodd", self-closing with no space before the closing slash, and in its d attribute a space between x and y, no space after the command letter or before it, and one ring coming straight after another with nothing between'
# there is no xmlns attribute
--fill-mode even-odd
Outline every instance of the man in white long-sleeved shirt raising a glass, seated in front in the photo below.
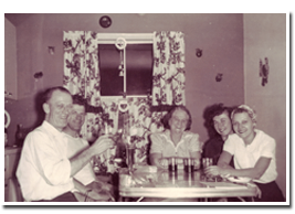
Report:
<svg viewBox="0 0 295 214"><path fill-rule="evenodd" d="M75 202L73 176L91 158L113 147L107 137L98 138L92 147L67 158L67 140L62 130L73 100L67 89L50 88L45 92L43 110L45 120L30 132L22 148L17 176L25 201Z"/></svg>

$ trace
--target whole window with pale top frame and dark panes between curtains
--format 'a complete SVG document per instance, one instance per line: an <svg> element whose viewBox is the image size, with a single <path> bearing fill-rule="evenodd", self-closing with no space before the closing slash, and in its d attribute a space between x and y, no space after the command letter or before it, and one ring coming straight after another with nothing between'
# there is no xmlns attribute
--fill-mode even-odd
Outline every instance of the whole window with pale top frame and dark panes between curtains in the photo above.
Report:
<svg viewBox="0 0 295 214"><path fill-rule="evenodd" d="M127 42L124 50L115 46L117 38ZM152 84L152 34L98 34L101 95L147 96ZM125 58L124 58L125 56ZM126 65L124 79L122 65Z"/></svg>

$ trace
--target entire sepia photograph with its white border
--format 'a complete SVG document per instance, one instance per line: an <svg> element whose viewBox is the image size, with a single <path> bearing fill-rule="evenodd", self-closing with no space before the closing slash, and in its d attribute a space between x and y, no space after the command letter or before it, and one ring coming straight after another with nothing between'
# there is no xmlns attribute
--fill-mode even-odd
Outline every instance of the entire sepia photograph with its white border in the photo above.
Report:
<svg viewBox="0 0 295 214"><path fill-rule="evenodd" d="M4 10L1 204L291 203L294 11L152 3Z"/></svg>

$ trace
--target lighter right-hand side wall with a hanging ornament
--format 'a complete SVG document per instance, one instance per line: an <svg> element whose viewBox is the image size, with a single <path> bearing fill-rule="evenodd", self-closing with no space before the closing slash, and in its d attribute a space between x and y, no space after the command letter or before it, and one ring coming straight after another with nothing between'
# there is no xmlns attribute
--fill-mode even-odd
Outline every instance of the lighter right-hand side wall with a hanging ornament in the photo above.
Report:
<svg viewBox="0 0 295 214"><path fill-rule="evenodd" d="M265 86L260 58L268 58ZM257 113L257 128L276 140L277 183L286 195L286 15L244 14L245 103Z"/></svg>

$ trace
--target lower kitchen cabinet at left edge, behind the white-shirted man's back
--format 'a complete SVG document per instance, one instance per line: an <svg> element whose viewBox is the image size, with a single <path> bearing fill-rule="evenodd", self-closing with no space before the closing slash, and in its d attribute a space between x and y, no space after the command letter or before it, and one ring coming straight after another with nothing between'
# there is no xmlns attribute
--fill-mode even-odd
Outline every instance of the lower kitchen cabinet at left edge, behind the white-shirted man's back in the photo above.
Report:
<svg viewBox="0 0 295 214"><path fill-rule="evenodd" d="M21 148L6 148L4 153L4 201L23 201L20 184L15 176Z"/></svg>

